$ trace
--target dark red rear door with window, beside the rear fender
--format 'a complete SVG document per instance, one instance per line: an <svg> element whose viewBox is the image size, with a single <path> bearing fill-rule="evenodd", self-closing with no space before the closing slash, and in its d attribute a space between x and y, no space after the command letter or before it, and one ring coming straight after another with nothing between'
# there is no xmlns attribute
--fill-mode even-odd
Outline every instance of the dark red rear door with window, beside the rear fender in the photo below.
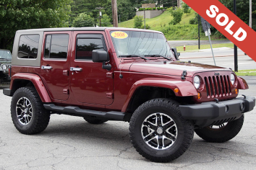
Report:
<svg viewBox="0 0 256 170"><path fill-rule="evenodd" d="M72 32L45 32L40 76L51 99L69 98L69 58Z"/></svg>

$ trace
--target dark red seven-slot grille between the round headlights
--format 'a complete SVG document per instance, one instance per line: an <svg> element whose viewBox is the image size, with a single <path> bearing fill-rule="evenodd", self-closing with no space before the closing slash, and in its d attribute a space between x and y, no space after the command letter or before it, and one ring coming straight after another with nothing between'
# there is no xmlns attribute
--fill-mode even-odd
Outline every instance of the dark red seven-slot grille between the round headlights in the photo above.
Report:
<svg viewBox="0 0 256 170"><path fill-rule="evenodd" d="M229 76L205 76L205 86L208 97L224 97L231 95Z"/></svg>

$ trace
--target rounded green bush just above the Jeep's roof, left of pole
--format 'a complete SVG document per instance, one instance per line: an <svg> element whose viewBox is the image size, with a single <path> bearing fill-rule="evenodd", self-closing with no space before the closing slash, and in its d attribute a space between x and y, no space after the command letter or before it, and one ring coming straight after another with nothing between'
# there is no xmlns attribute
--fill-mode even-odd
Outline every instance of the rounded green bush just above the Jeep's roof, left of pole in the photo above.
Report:
<svg viewBox="0 0 256 170"><path fill-rule="evenodd" d="M90 15L81 13L79 14L72 24L72 27L93 27L94 21Z"/></svg>

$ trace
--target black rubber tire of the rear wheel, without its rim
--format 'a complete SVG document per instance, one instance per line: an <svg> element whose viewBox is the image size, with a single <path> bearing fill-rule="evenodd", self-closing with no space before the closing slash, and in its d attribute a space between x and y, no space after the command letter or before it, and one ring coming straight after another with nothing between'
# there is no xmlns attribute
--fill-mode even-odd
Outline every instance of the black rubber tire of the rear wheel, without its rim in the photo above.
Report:
<svg viewBox="0 0 256 170"><path fill-rule="evenodd" d="M22 98L27 99L33 109L33 116L27 125L22 125L17 116L17 102ZM50 113L43 107L38 92L31 86L21 87L15 91L11 102L11 115L15 128L25 135L43 132L50 120Z"/></svg>

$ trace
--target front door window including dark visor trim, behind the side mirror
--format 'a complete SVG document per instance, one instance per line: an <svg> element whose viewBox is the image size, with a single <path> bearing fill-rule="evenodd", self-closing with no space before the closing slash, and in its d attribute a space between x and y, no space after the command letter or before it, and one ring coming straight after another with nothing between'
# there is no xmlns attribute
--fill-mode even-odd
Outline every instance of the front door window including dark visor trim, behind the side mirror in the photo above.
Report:
<svg viewBox="0 0 256 170"><path fill-rule="evenodd" d="M76 60L92 60L93 50L106 50L103 35L77 35Z"/></svg>

